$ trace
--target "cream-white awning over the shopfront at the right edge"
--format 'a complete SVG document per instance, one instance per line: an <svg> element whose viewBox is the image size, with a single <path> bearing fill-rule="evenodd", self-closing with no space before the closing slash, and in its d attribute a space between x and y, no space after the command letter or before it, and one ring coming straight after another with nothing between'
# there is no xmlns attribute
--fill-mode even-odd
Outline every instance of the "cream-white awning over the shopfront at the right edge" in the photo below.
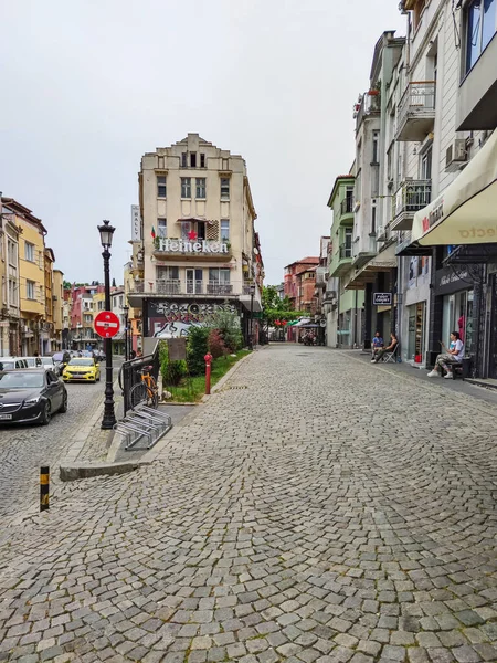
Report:
<svg viewBox="0 0 497 663"><path fill-rule="evenodd" d="M497 130L463 172L414 215L411 243L497 242Z"/></svg>

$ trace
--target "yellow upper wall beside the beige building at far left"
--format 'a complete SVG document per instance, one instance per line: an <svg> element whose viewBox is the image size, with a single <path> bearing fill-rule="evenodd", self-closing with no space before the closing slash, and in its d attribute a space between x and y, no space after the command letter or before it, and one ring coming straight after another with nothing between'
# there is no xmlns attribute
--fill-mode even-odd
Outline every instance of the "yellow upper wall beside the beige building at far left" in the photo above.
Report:
<svg viewBox="0 0 497 663"><path fill-rule="evenodd" d="M45 315L45 273L44 273L44 238L43 231L34 224L17 218L22 228L19 235L19 272L20 272L20 308L21 317L35 318ZM34 261L25 260L25 243L34 245ZM34 299L27 297L27 282L34 282Z"/></svg>

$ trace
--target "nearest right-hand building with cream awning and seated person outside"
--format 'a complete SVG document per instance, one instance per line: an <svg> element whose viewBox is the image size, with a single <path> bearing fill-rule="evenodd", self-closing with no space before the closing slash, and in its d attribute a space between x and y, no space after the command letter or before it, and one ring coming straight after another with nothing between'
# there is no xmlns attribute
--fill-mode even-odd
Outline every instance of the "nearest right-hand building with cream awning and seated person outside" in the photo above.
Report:
<svg viewBox="0 0 497 663"><path fill-rule="evenodd" d="M484 12L477 1L405 0L401 9L409 50L395 140L404 187L422 193L400 221L402 356L431 366L438 340L457 330L473 373L497 377L497 2Z"/></svg>

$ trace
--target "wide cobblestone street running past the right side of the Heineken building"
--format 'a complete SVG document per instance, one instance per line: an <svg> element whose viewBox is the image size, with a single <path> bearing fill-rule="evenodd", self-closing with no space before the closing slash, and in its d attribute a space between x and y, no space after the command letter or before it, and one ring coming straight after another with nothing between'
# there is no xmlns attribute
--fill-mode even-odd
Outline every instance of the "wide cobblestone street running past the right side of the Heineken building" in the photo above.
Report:
<svg viewBox="0 0 497 663"><path fill-rule="evenodd" d="M497 409L473 389L257 351L152 464L2 528L0 661L497 661Z"/></svg>

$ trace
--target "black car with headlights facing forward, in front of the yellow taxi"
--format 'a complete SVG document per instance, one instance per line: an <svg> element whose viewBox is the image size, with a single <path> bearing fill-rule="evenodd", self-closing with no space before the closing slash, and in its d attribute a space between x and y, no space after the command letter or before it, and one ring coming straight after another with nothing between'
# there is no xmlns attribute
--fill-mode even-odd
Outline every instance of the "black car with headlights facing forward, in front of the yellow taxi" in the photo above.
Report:
<svg viewBox="0 0 497 663"><path fill-rule="evenodd" d="M50 423L67 411L67 390L52 370L28 368L0 372L0 423Z"/></svg>

